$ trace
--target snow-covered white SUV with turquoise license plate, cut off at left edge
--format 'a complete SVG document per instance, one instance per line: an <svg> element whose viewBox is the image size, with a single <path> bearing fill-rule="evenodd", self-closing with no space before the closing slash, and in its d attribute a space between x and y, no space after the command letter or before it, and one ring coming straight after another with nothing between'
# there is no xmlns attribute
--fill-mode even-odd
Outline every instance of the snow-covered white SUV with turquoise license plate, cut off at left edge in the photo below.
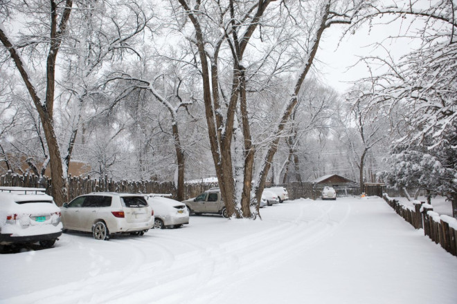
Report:
<svg viewBox="0 0 457 304"><path fill-rule="evenodd" d="M46 189L0 187L0 247L36 243L52 247L62 234L60 209Z"/></svg>

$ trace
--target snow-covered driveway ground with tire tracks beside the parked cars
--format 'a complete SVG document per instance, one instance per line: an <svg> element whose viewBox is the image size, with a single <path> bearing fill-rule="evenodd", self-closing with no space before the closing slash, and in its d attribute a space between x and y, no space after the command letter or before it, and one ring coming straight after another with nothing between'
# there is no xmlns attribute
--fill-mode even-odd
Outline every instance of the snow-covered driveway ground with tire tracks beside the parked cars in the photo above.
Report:
<svg viewBox="0 0 457 304"><path fill-rule="evenodd" d="M457 303L457 258L380 198L294 200L0 256L1 303Z"/></svg>

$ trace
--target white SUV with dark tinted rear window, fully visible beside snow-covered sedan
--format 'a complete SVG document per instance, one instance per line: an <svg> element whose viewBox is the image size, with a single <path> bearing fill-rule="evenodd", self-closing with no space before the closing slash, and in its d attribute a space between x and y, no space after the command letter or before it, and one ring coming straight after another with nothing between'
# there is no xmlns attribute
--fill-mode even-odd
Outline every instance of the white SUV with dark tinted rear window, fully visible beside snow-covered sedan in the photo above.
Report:
<svg viewBox="0 0 457 304"><path fill-rule="evenodd" d="M60 210L64 229L92 232L97 240L109 240L111 234L143 236L154 225L154 210L140 194L89 193Z"/></svg>

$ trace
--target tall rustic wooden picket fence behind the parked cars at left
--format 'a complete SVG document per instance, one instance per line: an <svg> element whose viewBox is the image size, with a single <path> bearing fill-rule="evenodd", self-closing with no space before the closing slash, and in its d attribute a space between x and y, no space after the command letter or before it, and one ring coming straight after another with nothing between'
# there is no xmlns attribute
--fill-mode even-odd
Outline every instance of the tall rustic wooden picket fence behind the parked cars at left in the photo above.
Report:
<svg viewBox="0 0 457 304"><path fill-rule="evenodd" d="M114 181L107 178L82 178L79 176L69 177L68 180L68 201L77 196L91 192L118 192L118 193L169 193L172 198L177 198L177 189L174 182L139 181L127 180ZM51 178L39 178L33 174L16 174L7 172L0 176L2 187L28 187L44 188L46 193L51 193ZM186 198L194 198L200 193L217 187L214 182L201 182L197 184L186 184L184 193Z"/></svg>

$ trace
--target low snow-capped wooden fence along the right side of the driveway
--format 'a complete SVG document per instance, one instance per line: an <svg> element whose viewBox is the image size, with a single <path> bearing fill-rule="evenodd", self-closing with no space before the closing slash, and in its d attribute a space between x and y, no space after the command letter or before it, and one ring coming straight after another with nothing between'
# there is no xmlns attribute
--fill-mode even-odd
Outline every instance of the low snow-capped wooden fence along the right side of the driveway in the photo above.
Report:
<svg viewBox="0 0 457 304"><path fill-rule="evenodd" d="M406 207L384 193L384 200L397 214L402 216L415 229L424 229L424 234L440 244L450 254L457 256L457 220L451 216L440 216L431 205L424 202L414 204L414 209Z"/></svg>

